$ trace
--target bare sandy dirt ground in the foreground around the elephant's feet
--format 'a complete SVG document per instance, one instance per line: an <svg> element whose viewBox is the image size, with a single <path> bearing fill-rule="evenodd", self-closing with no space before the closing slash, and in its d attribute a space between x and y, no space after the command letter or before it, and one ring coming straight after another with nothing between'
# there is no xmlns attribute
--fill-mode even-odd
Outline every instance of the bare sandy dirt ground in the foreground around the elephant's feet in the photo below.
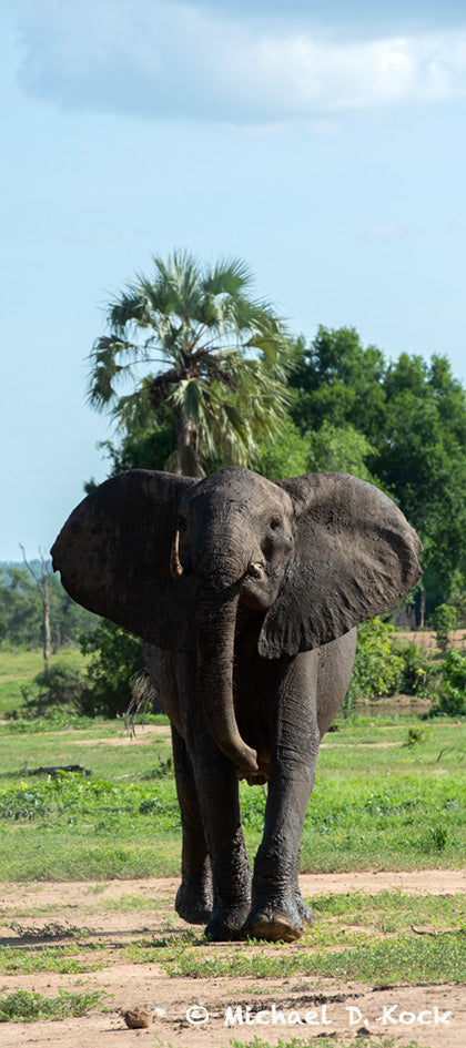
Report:
<svg viewBox="0 0 466 1048"><path fill-rule="evenodd" d="M2 988L38 990L54 997L60 988L83 993L105 990L113 996L109 1011L61 1021L6 1022L0 1027L2 1048L37 1046L45 1048L220 1048L232 1038L250 1042L254 1037L274 1045L300 1037L306 1042L325 1045L337 1034L345 1045L365 1042L371 1034L394 1037L396 1046L414 1040L422 1048L465 1048L466 995L464 986L436 984L411 987L342 984L333 979L292 976L291 978L190 979L170 978L156 964L130 964L121 956L122 946L142 935L160 936L186 929L173 912L178 881L115 881L105 884L34 883L7 885L1 896L0 944L18 950L41 949L49 942L28 939L27 928L41 928L51 922L79 927L99 952L92 959L103 963L99 971L59 975L54 971L0 976ZM305 875L301 877L305 897L330 893L367 892L384 888L413 894L466 894L465 871L419 871L409 873L348 873ZM136 895L141 908L126 910L124 901ZM144 901L153 899L153 909ZM121 905L122 908L115 908ZM41 916L38 916L41 914ZM11 923L22 925L19 934ZM60 942L67 942L60 940ZM71 942L71 939L69 940ZM84 939L82 939L84 942ZM212 944L210 954L225 947ZM255 948L255 947L250 947ZM271 948L276 956L300 950L300 944L257 947ZM308 949L308 945L306 949ZM79 943L77 944L79 955ZM89 953L87 954L89 959ZM129 1030L121 1010L135 1006L162 1008L149 1029ZM229 1025L229 1008L234 1025ZM189 1013L189 1009L191 1011ZM186 1018L189 1013L189 1018ZM450 1013L450 1015L448 1015ZM243 1022L239 1022L239 1017ZM246 1021L246 1018L249 1021ZM301 1020L301 1021L300 1021ZM369 1038L367 1037L367 1040Z"/></svg>

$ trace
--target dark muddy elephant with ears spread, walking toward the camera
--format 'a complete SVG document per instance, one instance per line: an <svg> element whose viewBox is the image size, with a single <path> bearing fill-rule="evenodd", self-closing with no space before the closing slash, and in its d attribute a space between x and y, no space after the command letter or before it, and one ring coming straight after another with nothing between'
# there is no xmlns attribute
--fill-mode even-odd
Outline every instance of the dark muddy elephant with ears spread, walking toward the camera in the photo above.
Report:
<svg viewBox="0 0 466 1048"><path fill-rule="evenodd" d="M131 469L71 513L52 550L68 593L142 638L171 721L181 917L214 940L297 939L313 915L300 843L318 746L351 680L356 625L421 574L416 532L348 474L195 480ZM267 782L254 873L239 780Z"/></svg>

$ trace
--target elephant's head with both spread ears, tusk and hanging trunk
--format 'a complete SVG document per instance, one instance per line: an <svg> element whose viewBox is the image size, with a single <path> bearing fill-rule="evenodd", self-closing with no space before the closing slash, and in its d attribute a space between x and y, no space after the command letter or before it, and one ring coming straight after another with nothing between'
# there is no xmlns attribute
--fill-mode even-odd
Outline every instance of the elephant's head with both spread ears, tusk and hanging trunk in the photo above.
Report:
<svg viewBox="0 0 466 1048"><path fill-rule="evenodd" d="M261 657L292 657L396 608L421 574L421 550L394 502L355 477L273 484L230 467L197 482L120 474L78 506L51 553L79 603L161 648L196 652L211 731L250 776L256 754L233 703L239 606L261 615Z"/></svg>

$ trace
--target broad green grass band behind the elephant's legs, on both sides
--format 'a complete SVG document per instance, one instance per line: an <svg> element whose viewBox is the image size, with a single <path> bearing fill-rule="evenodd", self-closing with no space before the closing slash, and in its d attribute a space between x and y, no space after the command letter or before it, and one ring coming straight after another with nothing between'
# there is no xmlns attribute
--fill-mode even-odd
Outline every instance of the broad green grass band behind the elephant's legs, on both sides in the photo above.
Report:
<svg viewBox="0 0 466 1048"><path fill-rule="evenodd" d="M424 741L408 745L409 726L421 723L358 718L326 736L305 818L303 872L464 864L466 723L432 724ZM114 721L19 734L0 726L2 881L178 873L181 823L169 725L156 735L139 728L136 742L114 745L123 735ZM395 745L367 744L387 740ZM72 763L89 777L30 773ZM241 798L253 857L265 796L242 783Z"/></svg>

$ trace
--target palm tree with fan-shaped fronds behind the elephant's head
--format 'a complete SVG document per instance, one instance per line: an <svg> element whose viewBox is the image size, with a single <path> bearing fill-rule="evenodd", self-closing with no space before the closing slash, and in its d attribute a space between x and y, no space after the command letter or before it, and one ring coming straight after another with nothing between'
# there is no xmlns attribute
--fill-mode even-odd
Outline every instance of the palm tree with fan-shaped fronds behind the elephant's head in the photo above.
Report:
<svg viewBox="0 0 466 1048"><path fill-rule="evenodd" d="M267 302L250 297L252 274L239 260L205 266L175 251L153 264L152 279L138 275L109 306L89 400L131 434L168 405L176 451L165 467L174 472L203 476L209 460L250 465L256 439L273 439L290 404L290 335ZM129 381L133 389L119 394Z"/></svg>

